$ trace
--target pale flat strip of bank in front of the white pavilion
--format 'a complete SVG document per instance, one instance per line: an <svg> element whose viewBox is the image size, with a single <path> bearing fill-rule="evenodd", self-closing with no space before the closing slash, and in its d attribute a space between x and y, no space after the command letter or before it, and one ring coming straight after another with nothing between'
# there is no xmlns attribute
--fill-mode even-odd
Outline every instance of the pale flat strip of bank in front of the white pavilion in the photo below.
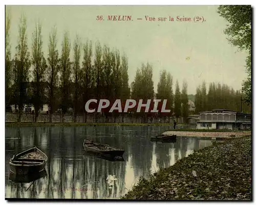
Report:
<svg viewBox="0 0 256 205"><path fill-rule="evenodd" d="M217 131L217 132L216 132ZM200 132L198 131L166 131L163 135L177 135L177 137L211 137L211 138L238 138L245 135L251 135L251 131L225 131L222 130L212 130Z"/></svg>

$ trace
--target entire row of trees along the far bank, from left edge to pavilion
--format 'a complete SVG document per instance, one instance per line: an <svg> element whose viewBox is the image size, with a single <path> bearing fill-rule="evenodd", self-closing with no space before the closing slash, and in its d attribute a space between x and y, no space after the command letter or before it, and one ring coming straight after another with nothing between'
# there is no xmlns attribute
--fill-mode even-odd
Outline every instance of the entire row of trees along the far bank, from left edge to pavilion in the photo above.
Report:
<svg viewBox="0 0 256 205"><path fill-rule="evenodd" d="M16 53L11 60L10 52L10 17L6 15L6 108L15 105L23 108L25 104L35 108L36 121L39 109L47 104L49 107L49 121L52 114L61 109L62 115L72 108L74 121L79 114L87 114L84 105L89 99L121 99L122 106L126 99L154 99L153 67L150 64L142 64L137 69L134 82L129 86L128 59L125 54L120 55L117 49L109 46L101 46L99 42L93 46L91 41L81 43L79 36L73 42L73 61L70 60L72 49L69 33L65 32L61 53L57 49L57 29L53 27L48 41L48 54L42 52L41 24L37 23L32 34L31 53L27 43L26 17L20 18L18 26L18 45ZM82 63L80 63L82 61ZM14 82L11 75L14 74ZM173 77L166 70L161 71L157 86L157 99L167 99L166 109L170 113L135 113L136 116L144 117L186 117L190 114L188 107L187 83L184 81L180 92L179 83L176 82L175 93L173 92ZM226 90L225 90L225 89ZM214 108L229 108L231 105L229 96L238 95L238 91L232 90L227 95L226 86L221 87L223 93L219 95L218 86L209 87L206 93L205 83L197 89L196 113ZM230 90L229 90L230 91ZM214 97L211 100L210 97ZM218 99L218 100L217 100ZM237 101L236 101L237 102ZM159 108L161 110L161 103ZM220 106L220 107L218 107ZM153 109L153 105L151 109ZM231 106L230 106L231 108ZM234 107L235 108L235 107ZM136 109L136 108L135 108ZM236 110L236 109L235 109ZM105 110L106 118L120 113L109 113ZM22 116L23 109L18 109L18 121ZM133 115L134 116L134 115ZM97 115L95 115L97 118ZM86 119L86 118L84 118Z"/></svg>

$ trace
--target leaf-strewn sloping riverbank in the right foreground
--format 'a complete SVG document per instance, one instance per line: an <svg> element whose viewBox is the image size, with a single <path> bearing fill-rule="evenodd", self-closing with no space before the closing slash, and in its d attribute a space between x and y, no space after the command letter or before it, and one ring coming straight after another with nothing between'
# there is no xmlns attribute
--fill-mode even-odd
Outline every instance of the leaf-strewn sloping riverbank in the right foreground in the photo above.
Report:
<svg viewBox="0 0 256 205"><path fill-rule="evenodd" d="M251 136L215 143L140 179L121 199L252 200Z"/></svg>

